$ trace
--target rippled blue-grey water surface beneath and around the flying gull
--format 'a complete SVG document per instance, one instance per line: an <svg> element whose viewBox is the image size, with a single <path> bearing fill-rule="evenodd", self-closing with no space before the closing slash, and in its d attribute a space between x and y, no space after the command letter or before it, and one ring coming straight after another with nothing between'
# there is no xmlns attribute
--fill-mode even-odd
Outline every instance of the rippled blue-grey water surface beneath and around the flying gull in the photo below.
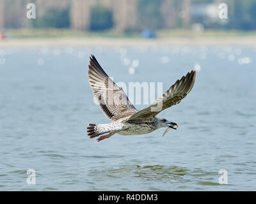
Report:
<svg viewBox="0 0 256 204"><path fill-rule="evenodd" d="M90 54L115 82L162 82L163 91L195 68L188 96L157 115L179 128L88 138L88 123L109 122L93 102ZM0 190L255 191L255 55L225 46L0 48Z"/></svg>

